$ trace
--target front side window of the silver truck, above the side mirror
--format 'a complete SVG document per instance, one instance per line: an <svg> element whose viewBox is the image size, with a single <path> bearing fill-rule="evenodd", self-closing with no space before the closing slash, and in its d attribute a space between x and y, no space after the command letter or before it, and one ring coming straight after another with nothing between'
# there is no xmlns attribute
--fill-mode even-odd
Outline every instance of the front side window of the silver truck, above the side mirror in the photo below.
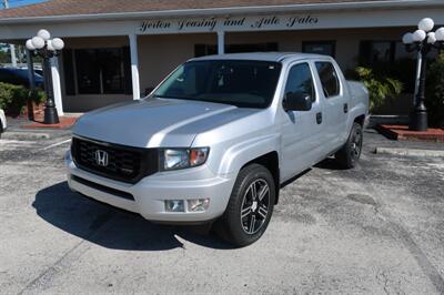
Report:
<svg viewBox="0 0 444 295"><path fill-rule="evenodd" d="M285 95L301 92L310 95L312 102L316 101L313 77L309 63L299 63L290 69L285 85Z"/></svg>

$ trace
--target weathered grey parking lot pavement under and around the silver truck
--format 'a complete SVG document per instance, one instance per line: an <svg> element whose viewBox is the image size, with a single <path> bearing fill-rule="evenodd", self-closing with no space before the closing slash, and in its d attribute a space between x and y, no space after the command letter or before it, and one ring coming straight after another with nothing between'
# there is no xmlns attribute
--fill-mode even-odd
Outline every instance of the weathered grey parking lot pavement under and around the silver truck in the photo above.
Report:
<svg viewBox="0 0 444 295"><path fill-rule="evenodd" d="M67 140L0 140L0 293L444 294L441 157L326 160L232 248L71 193Z"/></svg>

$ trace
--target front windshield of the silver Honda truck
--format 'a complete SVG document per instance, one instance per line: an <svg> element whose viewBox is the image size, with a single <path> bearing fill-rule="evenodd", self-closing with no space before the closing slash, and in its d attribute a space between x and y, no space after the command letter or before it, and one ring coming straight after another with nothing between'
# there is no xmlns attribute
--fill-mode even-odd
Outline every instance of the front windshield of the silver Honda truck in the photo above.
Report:
<svg viewBox="0 0 444 295"><path fill-rule="evenodd" d="M281 63L269 61L190 61L179 67L153 96L265 109L273 100L281 68Z"/></svg>

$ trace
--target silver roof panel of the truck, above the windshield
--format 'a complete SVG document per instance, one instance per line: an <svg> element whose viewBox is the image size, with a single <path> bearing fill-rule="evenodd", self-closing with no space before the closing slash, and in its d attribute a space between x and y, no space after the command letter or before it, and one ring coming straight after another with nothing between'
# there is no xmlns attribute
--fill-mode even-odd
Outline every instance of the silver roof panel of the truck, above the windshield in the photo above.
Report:
<svg viewBox="0 0 444 295"><path fill-rule="evenodd" d="M325 59L326 55L299 53L299 52L250 52L250 53L226 53L218 55L206 55L202 58L191 59L192 61L199 60L259 60L259 61L274 61L280 62L284 59L302 60L302 59Z"/></svg>

